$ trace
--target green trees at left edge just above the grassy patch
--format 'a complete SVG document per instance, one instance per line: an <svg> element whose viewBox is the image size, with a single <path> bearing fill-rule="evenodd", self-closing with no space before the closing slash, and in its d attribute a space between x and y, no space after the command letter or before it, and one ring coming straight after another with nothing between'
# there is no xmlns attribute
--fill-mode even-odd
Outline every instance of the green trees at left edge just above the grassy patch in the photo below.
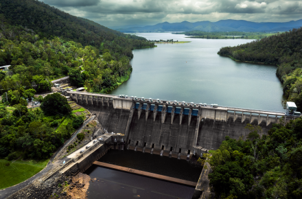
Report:
<svg viewBox="0 0 302 199"><path fill-rule="evenodd" d="M27 110L21 104L11 108L0 104L0 158L48 158L74 132L72 115L46 116L40 108Z"/></svg>

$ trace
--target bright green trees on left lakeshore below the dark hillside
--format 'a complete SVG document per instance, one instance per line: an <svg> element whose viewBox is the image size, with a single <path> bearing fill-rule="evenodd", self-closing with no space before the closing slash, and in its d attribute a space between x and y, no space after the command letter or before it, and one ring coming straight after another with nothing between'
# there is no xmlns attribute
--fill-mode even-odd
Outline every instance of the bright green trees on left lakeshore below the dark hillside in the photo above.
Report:
<svg viewBox="0 0 302 199"><path fill-rule="evenodd" d="M0 21L1 17L6 20L0 15ZM113 51L111 46L109 49L104 49L104 45L83 47L58 37L40 38L30 30L8 23L0 25L0 29L14 33L14 36L0 36L0 60L11 64L10 71L0 74L2 93L21 87L35 89L38 93L50 91L50 80L65 75L70 76L75 86L107 93L128 80L132 71L130 58ZM103 55L100 55L101 50Z"/></svg>

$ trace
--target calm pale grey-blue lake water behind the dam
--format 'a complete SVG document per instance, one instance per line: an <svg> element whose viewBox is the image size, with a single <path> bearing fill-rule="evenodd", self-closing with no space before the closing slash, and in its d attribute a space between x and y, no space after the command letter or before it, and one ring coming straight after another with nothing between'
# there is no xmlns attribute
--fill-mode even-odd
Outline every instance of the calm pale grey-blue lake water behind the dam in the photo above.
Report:
<svg viewBox="0 0 302 199"><path fill-rule="evenodd" d="M111 94L284 111L282 85L275 75L277 67L235 62L217 54L221 47L251 40L185 38L171 33L138 36L191 43L134 50L130 79Z"/></svg>

